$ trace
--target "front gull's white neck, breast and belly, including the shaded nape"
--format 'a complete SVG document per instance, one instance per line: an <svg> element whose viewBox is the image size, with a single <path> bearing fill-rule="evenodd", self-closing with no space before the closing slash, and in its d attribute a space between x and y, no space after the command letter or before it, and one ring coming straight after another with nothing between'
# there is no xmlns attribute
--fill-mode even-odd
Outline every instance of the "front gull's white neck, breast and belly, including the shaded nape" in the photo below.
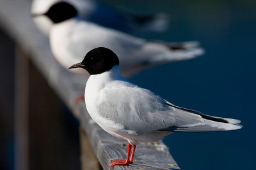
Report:
<svg viewBox="0 0 256 170"><path fill-rule="evenodd" d="M111 71L92 75L88 79L84 99L86 108L92 119L109 134L116 138L125 139L135 145L138 143L162 139L164 135L166 135L166 132L147 132L144 134L137 134L135 131L125 129L121 122L114 122L113 120L102 117L102 115L105 114L100 113L102 110L99 110L99 105L102 102L106 102L102 101L104 99L104 97L102 97L104 96L104 87L111 87L111 85L115 84L113 83L115 80L124 80L120 74L119 66L114 66ZM170 132L167 134L169 133Z"/></svg>

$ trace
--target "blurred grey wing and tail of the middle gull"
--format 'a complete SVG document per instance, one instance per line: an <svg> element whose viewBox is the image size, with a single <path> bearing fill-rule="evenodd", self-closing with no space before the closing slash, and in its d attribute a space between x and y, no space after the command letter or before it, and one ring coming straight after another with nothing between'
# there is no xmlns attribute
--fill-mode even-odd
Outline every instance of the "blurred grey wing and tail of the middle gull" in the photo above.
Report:
<svg viewBox="0 0 256 170"><path fill-rule="evenodd" d="M120 60L121 69L156 66L166 62L192 59L204 53L198 43L154 43L124 32L101 27L91 22L77 22L72 29L66 48L74 57L84 55L99 46L113 50Z"/></svg>

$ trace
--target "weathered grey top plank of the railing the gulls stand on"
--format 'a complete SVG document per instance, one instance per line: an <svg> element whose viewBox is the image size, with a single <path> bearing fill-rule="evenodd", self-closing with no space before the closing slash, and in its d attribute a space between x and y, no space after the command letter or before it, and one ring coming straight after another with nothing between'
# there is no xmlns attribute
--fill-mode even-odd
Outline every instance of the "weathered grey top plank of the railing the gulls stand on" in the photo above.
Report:
<svg viewBox="0 0 256 170"><path fill-rule="evenodd" d="M61 67L52 57L47 37L36 29L31 20L30 4L24 0L1 0L0 24L17 44L31 54L31 60L42 71L49 85L79 119L81 128L104 169L113 159L124 159L127 143L116 139L95 124L86 112L84 103L74 103L83 94L87 78L75 75ZM131 166L115 166L114 169L179 169L168 148L162 143L139 145ZM82 160L84 161L84 160Z"/></svg>

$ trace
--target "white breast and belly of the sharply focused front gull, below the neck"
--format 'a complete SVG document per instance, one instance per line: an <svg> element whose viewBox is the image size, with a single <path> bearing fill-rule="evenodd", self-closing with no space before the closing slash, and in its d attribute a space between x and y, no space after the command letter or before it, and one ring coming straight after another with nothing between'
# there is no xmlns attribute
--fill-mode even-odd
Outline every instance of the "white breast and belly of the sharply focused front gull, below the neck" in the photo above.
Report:
<svg viewBox="0 0 256 170"><path fill-rule="evenodd" d="M116 138L124 139L130 143L136 145L138 143L147 143L151 141L158 141L163 139L164 136L170 134L170 132L147 132L145 134L137 134L135 131L125 129L124 125L102 117L104 113L100 113L99 103L102 96L100 96L100 90L104 88L104 78L99 76L90 76L86 83L86 89L84 93L84 100L86 109L92 117L92 119L100 126L104 131L115 136Z"/></svg>

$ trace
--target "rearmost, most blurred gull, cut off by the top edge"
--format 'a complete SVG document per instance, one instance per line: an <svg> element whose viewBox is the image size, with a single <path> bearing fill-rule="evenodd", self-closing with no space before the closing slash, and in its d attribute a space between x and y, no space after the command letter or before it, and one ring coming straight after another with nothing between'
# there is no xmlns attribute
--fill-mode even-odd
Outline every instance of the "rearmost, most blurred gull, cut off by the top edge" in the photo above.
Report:
<svg viewBox="0 0 256 170"><path fill-rule="evenodd" d="M80 17L84 20L92 21L104 27L118 29L120 31L166 31L169 25L169 17L164 13L155 15L135 15L131 13L121 13L111 6L92 0L34 0L31 13L46 13L52 4L67 2L79 11ZM44 15L33 18L35 24L48 35L53 22Z"/></svg>

